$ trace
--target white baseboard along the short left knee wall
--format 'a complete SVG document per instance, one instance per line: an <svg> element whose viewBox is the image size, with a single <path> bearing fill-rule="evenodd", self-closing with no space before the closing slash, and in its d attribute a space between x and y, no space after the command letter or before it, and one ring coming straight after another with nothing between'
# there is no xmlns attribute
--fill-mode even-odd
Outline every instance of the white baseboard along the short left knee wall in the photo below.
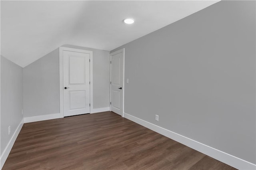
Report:
<svg viewBox="0 0 256 170"><path fill-rule="evenodd" d="M24 124L24 120L22 119L21 122L20 122L20 124L19 124L19 126L16 128L14 134L12 135L12 138L11 138L10 141L8 142L6 148L4 149L4 152L3 152L2 155L1 155L1 158L0 158L0 162L1 162L1 163L0 163L0 164L1 164L0 167L1 167L1 169L3 168L4 163L5 163L5 161L6 161L7 157L8 157L8 155L9 155L10 152L11 152L12 146L13 146L13 144L14 144L14 142L15 142L17 136L18 136L18 134L20 133L20 130L21 130L23 124Z"/></svg>

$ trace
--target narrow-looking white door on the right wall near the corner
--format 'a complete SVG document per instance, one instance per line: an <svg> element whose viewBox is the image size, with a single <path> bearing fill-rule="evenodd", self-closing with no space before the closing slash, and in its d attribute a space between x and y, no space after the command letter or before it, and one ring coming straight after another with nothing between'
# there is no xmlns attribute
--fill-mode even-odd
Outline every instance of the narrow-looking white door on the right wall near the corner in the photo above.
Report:
<svg viewBox="0 0 256 170"><path fill-rule="evenodd" d="M111 111L123 116L123 68L124 51L116 51L111 56Z"/></svg>

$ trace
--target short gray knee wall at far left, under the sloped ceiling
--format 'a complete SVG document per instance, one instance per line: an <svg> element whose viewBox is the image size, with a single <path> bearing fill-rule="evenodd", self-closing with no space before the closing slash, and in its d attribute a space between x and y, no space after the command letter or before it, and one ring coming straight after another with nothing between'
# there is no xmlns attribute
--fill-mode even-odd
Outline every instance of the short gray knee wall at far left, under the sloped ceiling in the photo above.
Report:
<svg viewBox="0 0 256 170"><path fill-rule="evenodd" d="M1 55L1 155L23 119L22 95L22 67Z"/></svg>

